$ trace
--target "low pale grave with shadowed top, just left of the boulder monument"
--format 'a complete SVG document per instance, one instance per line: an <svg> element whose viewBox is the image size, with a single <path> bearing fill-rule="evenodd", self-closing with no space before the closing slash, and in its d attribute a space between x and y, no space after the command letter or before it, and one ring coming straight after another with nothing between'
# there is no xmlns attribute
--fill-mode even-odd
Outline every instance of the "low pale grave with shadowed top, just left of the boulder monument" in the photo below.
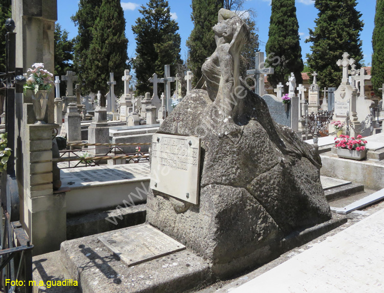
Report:
<svg viewBox="0 0 384 293"><path fill-rule="evenodd" d="M150 164L103 165L60 170L62 186L68 186L67 213L80 214L146 201ZM127 204L128 204L127 203Z"/></svg>

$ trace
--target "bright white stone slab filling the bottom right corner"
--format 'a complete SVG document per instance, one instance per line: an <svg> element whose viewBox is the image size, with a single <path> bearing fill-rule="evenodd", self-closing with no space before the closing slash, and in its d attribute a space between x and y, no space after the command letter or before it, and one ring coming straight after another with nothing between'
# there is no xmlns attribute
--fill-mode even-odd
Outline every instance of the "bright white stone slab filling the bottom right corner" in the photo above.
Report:
<svg viewBox="0 0 384 293"><path fill-rule="evenodd" d="M384 210L230 292L382 292L383 242Z"/></svg>

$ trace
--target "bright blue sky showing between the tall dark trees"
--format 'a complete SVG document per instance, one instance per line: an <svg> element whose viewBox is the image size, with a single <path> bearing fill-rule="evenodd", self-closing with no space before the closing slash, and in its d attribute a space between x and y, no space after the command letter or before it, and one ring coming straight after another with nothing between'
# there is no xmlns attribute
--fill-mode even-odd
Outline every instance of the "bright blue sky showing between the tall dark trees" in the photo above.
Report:
<svg viewBox="0 0 384 293"><path fill-rule="evenodd" d="M132 33L132 25L135 25L135 20L140 17L138 9L141 5L145 5L147 0L133 0L128 2L123 0L121 5L124 9L124 16L126 19L125 34L129 40L128 56L133 57L135 54L135 37ZM185 41L187 40L190 31L193 29L193 23L190 19L192 9L190 8L190 1L185 0L168 0L170 11L173 17L179 24L179 33L181 35L181 55L185 59L187 48ZM74 26L71 16L74 15L78 9L78 0L58 0L58 23L63 29L69 32L72 38L77 35L77 28ZM364 29L360 35L362 39L362 49L366 65L371 64L372 55L372 32L374 28L375 17L375 0L359 0L357 10L362 13L362 20L364 21ZM245 2L245 9L252 8L256 11L257 17L255 18L257 26L259 27L259 39L261 41L260 50L265 51L265 43L268 40L268 27L269 19L271 16L270 0L247 0ZM314 7L312 0L296 0L297 19L299 34L301 35L301 46L303 58L307 53L310 53L310 45L305 44L304 40L309 35L308 28L314 28L314 20L317 17L317 9ZM208 57L208 56L207 56ZM341 57L341 56L340 56Z"/></svg>

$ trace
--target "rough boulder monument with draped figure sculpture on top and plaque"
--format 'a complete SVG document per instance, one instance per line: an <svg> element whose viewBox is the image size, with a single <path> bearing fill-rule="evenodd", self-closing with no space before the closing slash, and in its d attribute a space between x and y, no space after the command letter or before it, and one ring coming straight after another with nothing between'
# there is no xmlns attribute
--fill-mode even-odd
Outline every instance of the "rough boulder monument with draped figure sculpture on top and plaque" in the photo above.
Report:
<svg viewBox="0 0 384 293"><path fill-rule="evenodd" d="M331 212L315 149L239 78L248 27L221 9L213 30L217 49L197 88L153 136L146 215L224 278L278 256L284 237Z"/></svg>

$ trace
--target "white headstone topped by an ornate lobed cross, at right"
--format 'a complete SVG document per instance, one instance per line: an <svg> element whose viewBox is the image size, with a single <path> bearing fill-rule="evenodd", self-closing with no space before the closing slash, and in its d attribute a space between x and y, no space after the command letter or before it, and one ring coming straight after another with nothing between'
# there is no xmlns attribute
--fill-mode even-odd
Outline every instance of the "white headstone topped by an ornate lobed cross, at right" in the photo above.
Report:
<svg viewBox="0 0 384 293"><path fill-rule="evenodd" d="M343 79L340 86L334 92L334 120L345 121L349 116L353 128L358 132L360 131L360 123L357 117L356 101L357 89L352 87L348 81L348 68L355 64L354 59L349 59L349 54L344 53L343 59L337 61L339 67L343 67ZM350 136L356 136L355 131L351 128Z"/></svg>

